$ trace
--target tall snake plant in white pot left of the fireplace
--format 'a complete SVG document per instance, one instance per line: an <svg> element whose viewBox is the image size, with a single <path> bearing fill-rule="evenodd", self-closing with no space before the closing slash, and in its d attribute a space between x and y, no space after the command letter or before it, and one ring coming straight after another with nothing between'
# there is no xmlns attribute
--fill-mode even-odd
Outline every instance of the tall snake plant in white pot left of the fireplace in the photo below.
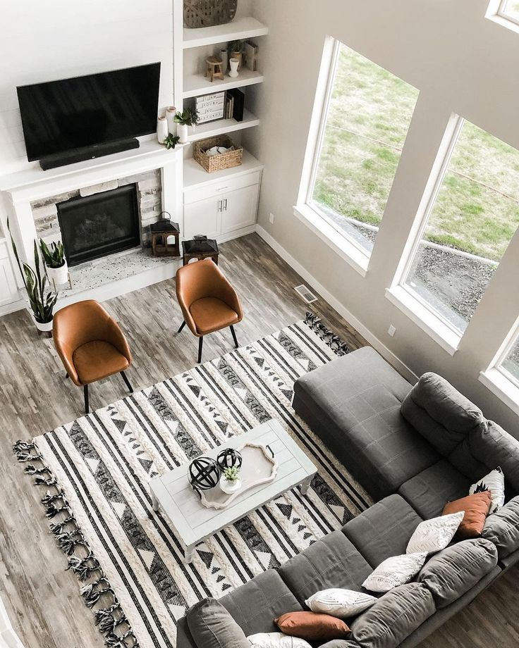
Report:
<svg viewBox="0 0 519 648"><path fill-rule="evenodd" d="M7 221L7 228L9 229L9 221ZM9 230L11 233L11 230ZM31 310L32 321L35 323L37 330L40 332L49 332L52 330L52 318L54 306L58 299L58 293L53 290L47 292L47 276L42 275L40 271L40 259L38 253L38 245L35 241L35 269L31 268L25 261L20 261L18 257L18 250L11 235L11 245L13 246L14 256L18 269L23 278L25 290Z"/></svg>

